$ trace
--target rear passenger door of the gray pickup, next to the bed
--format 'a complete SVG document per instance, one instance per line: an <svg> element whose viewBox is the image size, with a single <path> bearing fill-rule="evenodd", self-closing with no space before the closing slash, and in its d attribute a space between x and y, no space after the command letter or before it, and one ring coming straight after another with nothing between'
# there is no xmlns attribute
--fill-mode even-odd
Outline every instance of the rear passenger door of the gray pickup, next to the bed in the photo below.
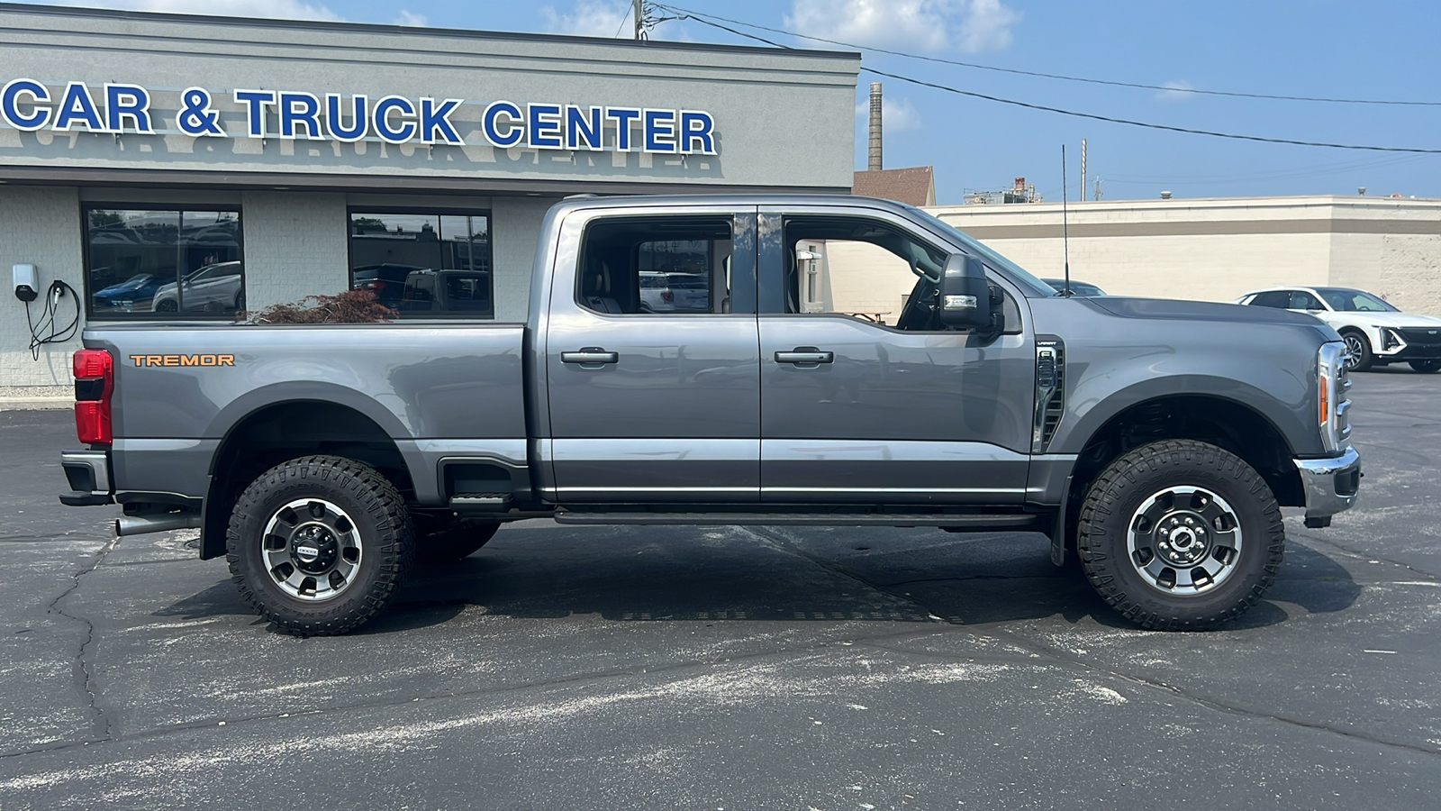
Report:
<svg viewBox="0 0 1441 811"><path fill-rule="evenodd" d="M581 211L562 244L575 255L556 260L545 325L555 499L758 501L755 208Z"/></svg>

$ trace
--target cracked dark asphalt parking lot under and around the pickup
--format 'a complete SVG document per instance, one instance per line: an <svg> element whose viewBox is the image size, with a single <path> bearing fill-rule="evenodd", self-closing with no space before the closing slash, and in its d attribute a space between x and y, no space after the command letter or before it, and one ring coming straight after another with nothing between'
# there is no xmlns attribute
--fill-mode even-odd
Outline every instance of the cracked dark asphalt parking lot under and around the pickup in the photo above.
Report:
<svg viewBox="0 0 1441 811"><path fill-rule="evenodd" d="M0 808L1435 808L1441 377L1355 377L1360 507L1209 634L1039 535L526 522L295 639L0 413Z"/></svg>

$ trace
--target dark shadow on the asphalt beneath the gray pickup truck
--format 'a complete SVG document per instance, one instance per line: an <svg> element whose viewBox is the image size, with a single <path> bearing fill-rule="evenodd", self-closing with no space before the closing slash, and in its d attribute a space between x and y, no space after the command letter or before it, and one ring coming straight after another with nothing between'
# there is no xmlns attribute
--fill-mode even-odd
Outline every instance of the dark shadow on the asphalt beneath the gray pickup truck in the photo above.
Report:
<svg viewBox="0 0 1441 811"><path fill-rule="evenodd" d="M712 532L725 535L722 543L623 528L585 540L500 535L465 560L416 567L391 608L357 634L442 625L474 608L553 621L987 625L1052 618L1131 628L1078 567L1052 566L1039 535L934 532L901 545L873 531L807 531L793 534L800 537L793 543L745 543L735 532ZM1274 625L1297 610L1344 610L1359 595L1337 561L1291 544L1267 599L1226 629ZM249 613L228 580L157 612L187 619Z"/></svg>

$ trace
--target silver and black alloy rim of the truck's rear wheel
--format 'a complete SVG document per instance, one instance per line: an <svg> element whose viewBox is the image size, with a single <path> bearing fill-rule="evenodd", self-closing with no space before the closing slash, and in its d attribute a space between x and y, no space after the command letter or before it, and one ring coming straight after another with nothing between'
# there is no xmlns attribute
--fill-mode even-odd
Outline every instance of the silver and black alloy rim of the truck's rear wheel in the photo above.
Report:
<svg viewBox="0 0 1441 811"><path fill-rule="evenodd" d="M360 532L334 504L301 498L271 515L261 535L261 556L271 580L308 602L339 596L360 566Z"/></svg>

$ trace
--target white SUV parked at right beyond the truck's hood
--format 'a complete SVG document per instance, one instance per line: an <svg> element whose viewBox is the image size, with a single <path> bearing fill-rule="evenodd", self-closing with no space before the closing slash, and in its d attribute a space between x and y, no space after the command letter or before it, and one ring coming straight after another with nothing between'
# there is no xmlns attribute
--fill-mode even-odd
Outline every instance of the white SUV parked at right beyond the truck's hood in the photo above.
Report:
<svg viewBox="0 0 1441 811"><path fill-rule="evenodd" d="M1272 287L1252 290L1238 304L1313 315L1346 341L1355 371L1405 361L1418 372L1441 371L1441 319L1404 313L1380 296L1352 287Z"/></svg>

